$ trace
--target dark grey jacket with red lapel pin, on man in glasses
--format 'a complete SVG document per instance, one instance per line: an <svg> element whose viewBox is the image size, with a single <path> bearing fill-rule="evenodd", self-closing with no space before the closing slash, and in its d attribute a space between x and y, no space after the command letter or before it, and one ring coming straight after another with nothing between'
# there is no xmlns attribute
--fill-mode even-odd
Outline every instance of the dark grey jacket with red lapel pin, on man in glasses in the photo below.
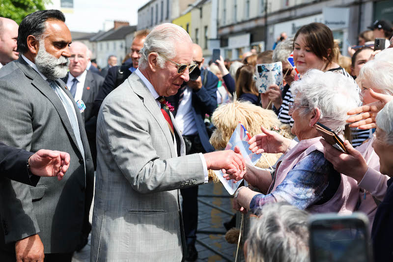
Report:
<svg viewBox="0 0 393 262"><path fill-rule="evenodd" d="M70 72L68 72L67 76L62 79L64 83L67 83L69 73ZM82 113L82 116L84 117L84 128L86 130L87 139L89 141L91 156L94 163L94 170L97 166L97 146L95 139L95 132L97 130L97 116L93 114L93 106L94 100L98 96L103 82L104 78L102 76L94 74L93 72L88 70L86 74L86 79L84 81L82 93L82 101L86 105L86 109Z"/></svg>

